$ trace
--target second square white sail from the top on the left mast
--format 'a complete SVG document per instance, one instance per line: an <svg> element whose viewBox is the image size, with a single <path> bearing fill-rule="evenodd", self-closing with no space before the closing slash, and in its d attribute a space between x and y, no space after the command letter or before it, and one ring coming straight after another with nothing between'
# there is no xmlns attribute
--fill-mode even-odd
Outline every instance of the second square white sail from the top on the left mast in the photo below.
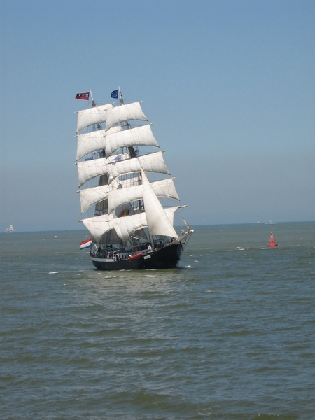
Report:
<svg viewBox="0 0 315 420"><path fill-rule="evenodd" d="M105 150L107 136L121 131L121 126L111 127L111 130L97 130L77 136L76 160L95 151Z"/></svg>

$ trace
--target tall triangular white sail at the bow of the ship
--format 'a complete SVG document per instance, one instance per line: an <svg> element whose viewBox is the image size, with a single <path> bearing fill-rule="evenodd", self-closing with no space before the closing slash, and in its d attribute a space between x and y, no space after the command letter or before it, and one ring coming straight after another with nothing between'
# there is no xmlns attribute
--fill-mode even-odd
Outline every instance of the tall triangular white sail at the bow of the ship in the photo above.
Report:
<svg viewBox="0 0 315 420"><path fill-rule="evenodd" d="M169 217L165 213L158 197L148 181L144 169L142 172L142 185L144 187L144 209L146 211L146 220L148 221L148 230L150 235L165 235L177 237L176 230L173 228Z"/></svg>

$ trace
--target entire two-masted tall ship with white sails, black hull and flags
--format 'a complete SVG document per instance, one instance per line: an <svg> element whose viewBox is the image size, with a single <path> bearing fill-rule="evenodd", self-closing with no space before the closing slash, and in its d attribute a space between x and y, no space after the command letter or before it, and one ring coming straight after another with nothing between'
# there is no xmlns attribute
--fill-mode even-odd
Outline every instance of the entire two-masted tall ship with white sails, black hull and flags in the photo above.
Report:
<svg viewBox="0 0 315 420"><path fill-rule="evenodd" d="M141 102L125 103L119 88L111 97L98 105L91 91L76 95L92 104L77 111L81 221L91 236L80 248L100 270L176 268L193 234L185 220L180 234L174 228L186 205L165 205L179 195Z"/></svg>

